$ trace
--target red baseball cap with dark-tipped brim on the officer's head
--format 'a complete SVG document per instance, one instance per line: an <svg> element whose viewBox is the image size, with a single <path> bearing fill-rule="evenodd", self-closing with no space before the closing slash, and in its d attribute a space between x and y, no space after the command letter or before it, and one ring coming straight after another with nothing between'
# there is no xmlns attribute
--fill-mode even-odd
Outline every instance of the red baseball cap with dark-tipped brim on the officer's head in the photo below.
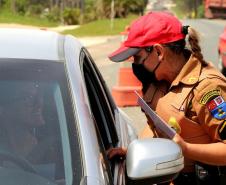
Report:
<svg viewBox="0 0 226 185"><path fill-rule="evenodd" d="M175 16L164 12L150 12L133 22L127 39L108 57L113 62L122 62L142 48L184 39L182 28Z"/></svg>

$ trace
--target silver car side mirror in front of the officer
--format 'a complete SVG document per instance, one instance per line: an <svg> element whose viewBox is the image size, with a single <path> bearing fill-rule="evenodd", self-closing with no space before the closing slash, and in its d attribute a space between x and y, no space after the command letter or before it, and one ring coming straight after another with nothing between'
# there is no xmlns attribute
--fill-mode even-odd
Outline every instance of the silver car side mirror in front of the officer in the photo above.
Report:
<svg viewBox="0 0 226 185"><path fill-rule="evenodd" d="M155 184L173 180L184 168L181 148L163 138L137 139L126 156L128 184Z"/></svg>

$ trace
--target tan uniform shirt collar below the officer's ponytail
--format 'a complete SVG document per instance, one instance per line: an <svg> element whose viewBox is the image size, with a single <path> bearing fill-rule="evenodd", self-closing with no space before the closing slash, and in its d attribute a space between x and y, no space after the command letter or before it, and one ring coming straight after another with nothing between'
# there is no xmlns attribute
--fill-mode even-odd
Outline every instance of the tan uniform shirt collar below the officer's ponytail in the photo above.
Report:
<svg viewBox="0 0 226 185"><path fill-rule="evenodd" d="M189 60L186 62L180 73L174 79L170 88L177 86L179 83L183 83L185 85L196 84L199 80L201 68L201 62L191 54Z"/></svg>

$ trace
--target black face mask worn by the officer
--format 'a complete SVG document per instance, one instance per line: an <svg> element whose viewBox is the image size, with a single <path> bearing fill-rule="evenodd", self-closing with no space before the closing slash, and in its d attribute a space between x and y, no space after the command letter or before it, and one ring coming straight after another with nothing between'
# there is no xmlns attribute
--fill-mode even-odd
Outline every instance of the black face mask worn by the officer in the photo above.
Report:
<svg viewBox="0 0 226 185"><path fill-rule="evenodd" d="M147 87L149 84L157 81L155 74L148 71L142 64L132 63L132 69L134 75L141 81L143 87Z"/></svg>

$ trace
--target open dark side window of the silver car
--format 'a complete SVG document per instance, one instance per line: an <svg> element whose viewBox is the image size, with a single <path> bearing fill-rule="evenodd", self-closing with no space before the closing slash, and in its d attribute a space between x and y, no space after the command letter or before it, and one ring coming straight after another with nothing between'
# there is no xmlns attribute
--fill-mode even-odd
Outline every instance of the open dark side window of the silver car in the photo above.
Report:
<svg viewBox="0 0 226 185"><path fill-rule="evenodd" d="M85 50L82 66L92 113L97 122L104 147L107 150L109 147L116 146L118 142L115 129L114 104L107 94L107 87L103 84L102 76Z"/></svg>

